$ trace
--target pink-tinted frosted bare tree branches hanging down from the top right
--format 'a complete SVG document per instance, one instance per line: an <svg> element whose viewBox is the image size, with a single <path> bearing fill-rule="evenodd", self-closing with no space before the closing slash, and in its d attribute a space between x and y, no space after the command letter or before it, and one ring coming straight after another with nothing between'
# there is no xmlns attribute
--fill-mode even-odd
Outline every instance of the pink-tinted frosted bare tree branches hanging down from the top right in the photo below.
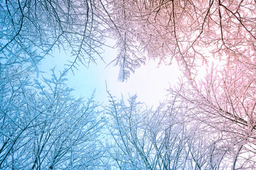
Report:
<svg viewBox="0 0 256 170"><path fill-rule="evenodd" d="M165 64L175 59L186 77L196 74L196 67L202 62L207 64L211 58L230 64L250 63L251 56L255 56L254 1L127 0L109 3L112 4L109 17L115 25L115 35L121 38L117 44L120 49L132 52L129 47L136 48L148 58ZM132 70L129 64L134 60L140 63L139 57L125 54L123 60L117 57L117 61L128 71Z"/></svg>

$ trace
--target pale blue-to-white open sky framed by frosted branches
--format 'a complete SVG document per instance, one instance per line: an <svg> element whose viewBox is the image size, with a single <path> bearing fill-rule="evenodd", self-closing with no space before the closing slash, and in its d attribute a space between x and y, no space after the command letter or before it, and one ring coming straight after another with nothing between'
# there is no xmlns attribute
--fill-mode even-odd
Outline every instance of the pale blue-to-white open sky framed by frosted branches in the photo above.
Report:
<svg viewBox="0 0 256 170"><path fill-rule="evenodd" d="M112 44L111 44L112 43ZM110 46L114 45L110 41ZM130 75L129 79L124 82L118 81L119 67L109 64L115 57L117 57L117 50L110 47L105 47L105 52L102 54L106 64L98 61L97 64L90 64L89 68L80 64L78 70L68 73L67 84L75 89L73 95L76 97L90 98L92 92L95 91L95 98L100 103L108 101L107 89L112 96L117 98L124 98L126 100L129 96L137 94L138 101L146 103L147 106L157 107L159 102L166 98L166 89L169 85L174 85L178 81L178 66L174 62L171 65L158 66L154 61L147 61L135 73ZM55 67L55 71L63 70L65 64L68 64L68 55L59 50L53 52L53 57L47 57L42 61L40 70L44 77L49 77L50 69Z"/></svg>

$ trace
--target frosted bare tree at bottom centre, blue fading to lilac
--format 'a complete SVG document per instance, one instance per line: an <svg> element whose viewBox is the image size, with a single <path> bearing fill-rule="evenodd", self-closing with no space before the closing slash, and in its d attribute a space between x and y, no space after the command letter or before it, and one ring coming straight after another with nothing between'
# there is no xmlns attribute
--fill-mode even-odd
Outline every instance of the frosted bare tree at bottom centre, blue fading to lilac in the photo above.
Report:
<svg viewBox="0 0 256 170"><path fill-rule="evenodd" d="M132 96L125 104L110 95L110 157L117 169L219 169L225 151L202 123L173 96L156 111Z"/></svg>

